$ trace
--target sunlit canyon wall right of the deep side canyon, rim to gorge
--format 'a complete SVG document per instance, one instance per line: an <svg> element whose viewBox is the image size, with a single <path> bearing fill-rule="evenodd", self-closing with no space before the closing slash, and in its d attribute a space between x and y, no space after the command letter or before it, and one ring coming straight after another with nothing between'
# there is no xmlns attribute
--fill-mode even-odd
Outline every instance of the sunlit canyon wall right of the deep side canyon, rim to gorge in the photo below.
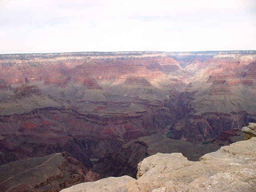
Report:
<svg viewBox="0 0 256 192"><path fill-rule="evenodd" d="M190 78L185 90L185 115L170 126L171 138L212 142L230 128L241 129L248 122L256 122L256 55L255 51L250 53L218 52L212 58L208 53L204 54L209 56L206 60L189 53L175 55L180 60L186 55L190 64L184 64L185 69L194 79Z"/></svg>

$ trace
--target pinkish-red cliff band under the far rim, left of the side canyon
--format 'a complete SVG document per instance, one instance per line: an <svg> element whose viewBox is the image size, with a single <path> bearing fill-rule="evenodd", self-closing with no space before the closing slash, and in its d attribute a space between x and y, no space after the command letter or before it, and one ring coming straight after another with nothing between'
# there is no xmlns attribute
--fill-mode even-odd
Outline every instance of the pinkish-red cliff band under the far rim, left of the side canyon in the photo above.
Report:
<svg viewBox="0 0 256 192"><path fill-rule="evenodd" d="M97 56L53 58L50 54L47 56L49 58L33 59L24 56L20 59L0 60L2 66L0 76L9 84L25 84L44 80L45 84L65 86L72 76L115 80L118 76L125 75L153 80L164 76L162 71L181 70L180 65L173 58L159 54L145 57L120 56L119 58L112 55L102 58ZM37 57L36 54L35 57Z"/></svg>

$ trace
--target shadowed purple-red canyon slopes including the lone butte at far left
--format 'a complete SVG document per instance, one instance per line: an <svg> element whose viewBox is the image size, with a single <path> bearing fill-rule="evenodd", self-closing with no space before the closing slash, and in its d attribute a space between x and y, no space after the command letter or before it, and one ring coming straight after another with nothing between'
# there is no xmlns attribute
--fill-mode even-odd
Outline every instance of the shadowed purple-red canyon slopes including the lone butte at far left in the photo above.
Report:
<svg viewBox="0 0 256 192"><path fill-rule="evenodd" d="M130 101L74 108L52 100L36 86L18 87L1 103L0 164L67 151L91 167L89 157L101 158L131 139L166 132L160 117L152 115L162 104L154 105L145 109Z"/></svg>

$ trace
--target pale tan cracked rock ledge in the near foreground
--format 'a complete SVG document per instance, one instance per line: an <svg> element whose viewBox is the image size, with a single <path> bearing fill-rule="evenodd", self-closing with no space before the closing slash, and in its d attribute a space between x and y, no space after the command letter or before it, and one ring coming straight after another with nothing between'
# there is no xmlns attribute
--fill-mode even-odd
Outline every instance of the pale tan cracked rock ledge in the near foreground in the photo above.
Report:
<svg viewBox="0 0 256 192"><path fill-rule="evenodd" d="M255 192L256 138L223 146L199 162L181 153L156 154L138 164L137 180L110 177L61 192Z"/></svg>

